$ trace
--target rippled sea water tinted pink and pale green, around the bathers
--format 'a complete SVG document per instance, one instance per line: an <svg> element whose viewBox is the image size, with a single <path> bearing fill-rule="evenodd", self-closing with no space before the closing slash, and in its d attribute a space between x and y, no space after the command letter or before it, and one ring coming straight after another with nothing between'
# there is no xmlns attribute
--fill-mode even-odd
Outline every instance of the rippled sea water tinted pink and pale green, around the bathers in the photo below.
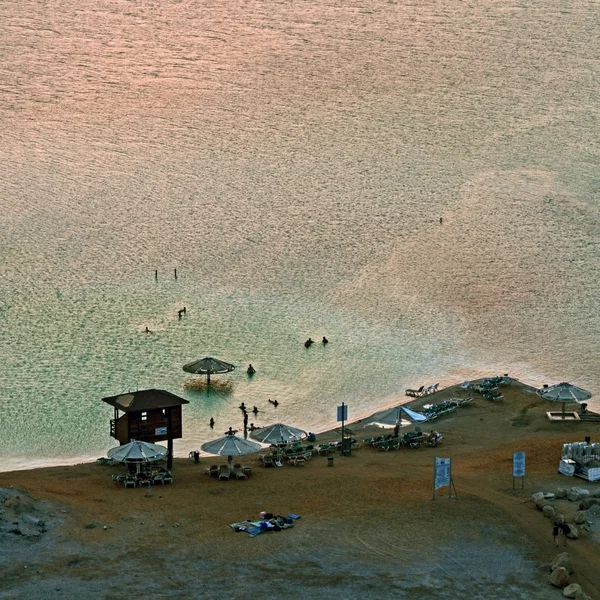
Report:
<svg viewBox="0 0 600 600"><path fill-rule="evenodd" d="M103 455L101 398L149 387L190 401L178 455L242 401L320 431L484 375L600 395L599 15L4 0L0 468ZM207 355L229 388L185 387Z"/></svg>

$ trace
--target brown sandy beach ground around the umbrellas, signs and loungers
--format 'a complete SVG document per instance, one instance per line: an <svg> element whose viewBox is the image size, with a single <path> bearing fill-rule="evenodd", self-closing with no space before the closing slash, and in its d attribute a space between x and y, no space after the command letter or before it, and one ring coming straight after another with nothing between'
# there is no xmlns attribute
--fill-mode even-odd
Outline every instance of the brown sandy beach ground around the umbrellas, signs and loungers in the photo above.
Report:
<svg viewBox="0 0 600 600"><path fill-rule="evenodd" d="M272 469L251 455L242 457L254 467L244 481L205 475L223 462L211 458L176 459L173 484L150 496L113 483L121 466L0 473L0 487L13 486L1 522L0 598L561 598L548 577L563 548L554 547L552 524L531 495L598 489L557 473L561 445L595 441L598 424L551 423L545 412L555 406L532 388L513 382L502 391L499 402L475 395L426 423L443 434L439 448L363 444L351 456L336 454L333 466L313 456L305 466ZM464 395L452 387L411 407ZM382 433L368 419L350 430L360 441ZM332 431L317 443L337 438ZM521 480L513 489L515 451L527 453L524 489ZM435 456L452 458L458 499L444 488L432 501ZM560 504L566 516L576 509ZM301 518L256 537L229 527L260 511ZM43 518L47 531L7 533L9 521L27 527L24 515ZM600 598L600 529L590 521L566 550L572 581Z"/></svg>

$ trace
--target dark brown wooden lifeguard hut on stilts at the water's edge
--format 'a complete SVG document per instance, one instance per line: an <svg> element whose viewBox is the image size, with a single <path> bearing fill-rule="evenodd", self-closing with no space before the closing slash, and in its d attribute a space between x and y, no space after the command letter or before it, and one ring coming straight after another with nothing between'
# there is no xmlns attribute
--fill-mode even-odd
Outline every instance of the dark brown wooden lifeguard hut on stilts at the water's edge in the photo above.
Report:
<svg viewBox="0 0 600 600"><path fill-rule="evenodd" d="M187 400L166 390L139 390L102 398L115 409L110 435L121 445L131 440L167 441L168 467L173 466L173 440L182 437L181 407Z"/></svg>

